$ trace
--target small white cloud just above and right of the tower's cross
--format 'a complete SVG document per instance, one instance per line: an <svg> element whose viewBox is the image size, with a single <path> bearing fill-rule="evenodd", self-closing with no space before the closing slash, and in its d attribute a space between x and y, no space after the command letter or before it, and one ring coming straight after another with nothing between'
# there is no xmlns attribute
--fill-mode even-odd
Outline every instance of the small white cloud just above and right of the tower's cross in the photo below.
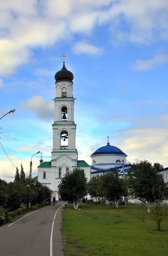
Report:
<svg viewBox="0 0 168 256"><path fill-rule="evenodd" d="M73 52L76 54L84 53L89 55L101 55L103 53L103 48L98 48L93 44L81 41L74 45Z"/></svg>

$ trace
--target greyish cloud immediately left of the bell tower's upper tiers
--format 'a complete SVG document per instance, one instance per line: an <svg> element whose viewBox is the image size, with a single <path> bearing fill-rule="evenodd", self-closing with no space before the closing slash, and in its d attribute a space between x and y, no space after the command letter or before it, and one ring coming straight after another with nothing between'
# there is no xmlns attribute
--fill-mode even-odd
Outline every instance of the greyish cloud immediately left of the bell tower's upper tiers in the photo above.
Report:
<svg viewBox="0 0 168 256"><path fill-rule="evenodd" d="M34 112L40 119L48 120L54 117L53 102L46 102L42 96L33 96L22 102L22 106Z"/></svg>

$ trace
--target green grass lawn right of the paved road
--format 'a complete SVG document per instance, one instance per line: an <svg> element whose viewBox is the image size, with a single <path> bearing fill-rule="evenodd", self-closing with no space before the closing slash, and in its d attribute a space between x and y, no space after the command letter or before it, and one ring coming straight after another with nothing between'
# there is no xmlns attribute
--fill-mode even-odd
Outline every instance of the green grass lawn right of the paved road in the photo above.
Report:
<svg viewBox="0 0 168 256"><path fill-rule="evenodd" d="M68 204L63 211L65 256L168 256L168 218L157 231L151 214L145 213L143 223L138 218L142 207L134 204L127 209L90 204L79 208Z"/></svg>

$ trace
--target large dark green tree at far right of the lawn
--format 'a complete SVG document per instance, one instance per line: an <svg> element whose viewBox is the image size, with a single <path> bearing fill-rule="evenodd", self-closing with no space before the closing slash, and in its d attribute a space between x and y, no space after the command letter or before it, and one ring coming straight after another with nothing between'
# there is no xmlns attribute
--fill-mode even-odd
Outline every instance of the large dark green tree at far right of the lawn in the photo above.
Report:
<svg viewBox="0 0 168 256"><path fill-rule="evenodd" d="M148 160L133 163L128 171L127 183L131 197L148 203L148 212L156 200L164 201L168 198L167 183Z"/></svg>

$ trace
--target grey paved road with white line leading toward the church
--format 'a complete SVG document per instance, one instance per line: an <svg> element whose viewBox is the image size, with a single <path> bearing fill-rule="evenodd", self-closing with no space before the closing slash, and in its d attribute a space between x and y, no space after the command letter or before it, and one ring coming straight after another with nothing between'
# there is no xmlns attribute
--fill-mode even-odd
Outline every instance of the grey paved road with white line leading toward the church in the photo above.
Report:
<svg viewBox="0 0 168 256"><path fill-rule="evenodd" d="M10 226L0 227L0 256L64 256L60 230L62 205L63 202L57 202L13 221Z"/></svg>

